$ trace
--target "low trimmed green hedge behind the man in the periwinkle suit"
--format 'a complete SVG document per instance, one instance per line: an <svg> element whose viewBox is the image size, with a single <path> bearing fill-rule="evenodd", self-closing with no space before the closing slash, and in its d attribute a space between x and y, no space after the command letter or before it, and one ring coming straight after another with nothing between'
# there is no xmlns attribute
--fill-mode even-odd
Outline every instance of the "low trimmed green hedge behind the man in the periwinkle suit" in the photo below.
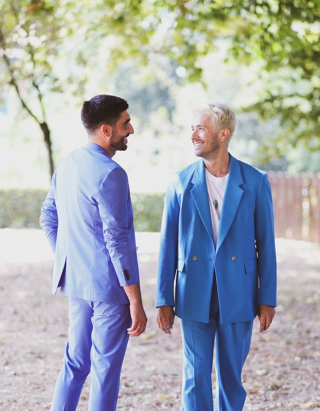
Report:
<svg viewBox="0 0 320 411"><path fill-rule="evenodd" d="M0 228L39 229L47 191L38 188L0 189ZM136 231L160 231L165 194L131 193Z"/></svg>

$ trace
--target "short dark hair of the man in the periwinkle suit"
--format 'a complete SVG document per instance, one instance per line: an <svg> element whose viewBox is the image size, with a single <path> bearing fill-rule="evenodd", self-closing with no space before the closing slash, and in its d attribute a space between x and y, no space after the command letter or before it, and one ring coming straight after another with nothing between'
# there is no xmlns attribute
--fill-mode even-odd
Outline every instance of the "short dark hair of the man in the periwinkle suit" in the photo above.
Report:
<svg viewBox="0 0 320 411"><path fill-rule="evenodd" d="M129 104L121 97L99 94L83 102L81 122L88 134L94 133L102 124L114 127L121 113L128 107Z"/></svg>

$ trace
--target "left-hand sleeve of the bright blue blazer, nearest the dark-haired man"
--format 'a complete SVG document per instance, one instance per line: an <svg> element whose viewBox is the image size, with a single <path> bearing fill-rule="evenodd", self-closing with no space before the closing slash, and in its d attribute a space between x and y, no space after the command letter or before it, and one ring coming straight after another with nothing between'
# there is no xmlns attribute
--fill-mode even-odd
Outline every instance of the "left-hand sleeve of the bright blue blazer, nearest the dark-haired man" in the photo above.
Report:
<svg viewBox="0 0 320 411"><path fill-rule="evenodd" d="M172 179L167 188L162 215L156 307L162 305L172 305L174 307L174 278L178 261L179 214L180 206Z"/></svg>

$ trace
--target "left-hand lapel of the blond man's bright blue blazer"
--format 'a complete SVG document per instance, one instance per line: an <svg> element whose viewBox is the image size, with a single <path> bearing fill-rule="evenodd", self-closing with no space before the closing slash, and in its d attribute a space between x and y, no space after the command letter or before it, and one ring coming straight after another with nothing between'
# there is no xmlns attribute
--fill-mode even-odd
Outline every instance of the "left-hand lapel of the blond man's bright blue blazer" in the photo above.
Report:
<svg viewBox="0 0 320 411"><path fill-rule="evenodd" d="M193 174L191 182L195 186L190 190L190 194L192 195L202 222L213 242L211 213L203 160L199 160L197 162L195 173Z"/></svg>

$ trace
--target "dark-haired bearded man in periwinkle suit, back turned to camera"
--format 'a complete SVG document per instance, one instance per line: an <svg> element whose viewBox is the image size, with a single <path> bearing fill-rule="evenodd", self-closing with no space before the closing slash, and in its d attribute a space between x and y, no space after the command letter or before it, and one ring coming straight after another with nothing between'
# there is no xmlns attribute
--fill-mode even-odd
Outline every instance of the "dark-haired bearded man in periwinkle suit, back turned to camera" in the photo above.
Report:
<svg viewBox="0 0 320 411"><path fill-rule="evenodd" d="M60 287L69 299L52 411L76 410L89 372L89 410L114 411L128 338L146 328L128 176L112 160L134 132L127 109L110 95L83 103L88 143L58 166L41 210L55 253L52 292Z"/></svg>

